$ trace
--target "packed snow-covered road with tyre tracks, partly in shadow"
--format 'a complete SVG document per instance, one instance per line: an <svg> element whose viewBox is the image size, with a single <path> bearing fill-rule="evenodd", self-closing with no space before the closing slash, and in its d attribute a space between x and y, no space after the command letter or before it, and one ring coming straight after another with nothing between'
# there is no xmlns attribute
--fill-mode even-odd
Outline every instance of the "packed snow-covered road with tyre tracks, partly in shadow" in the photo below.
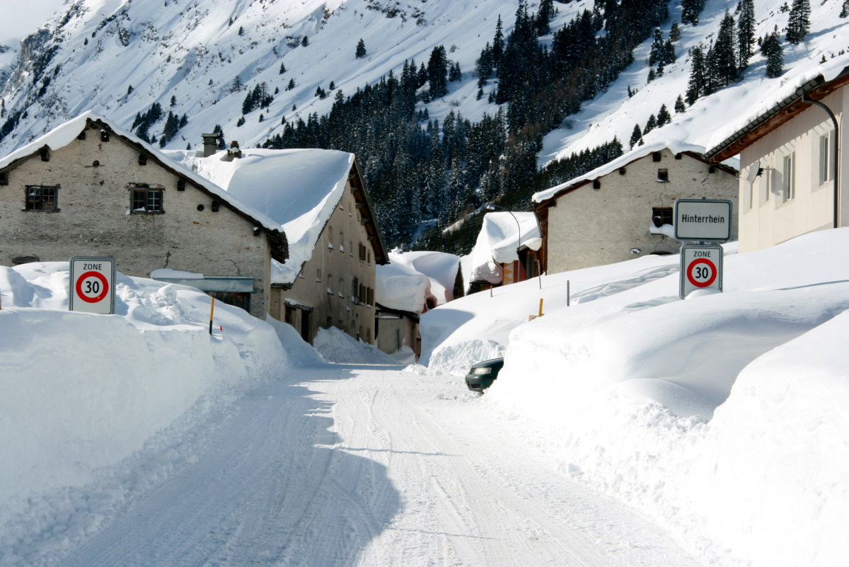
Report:
<svg viewBox="0 0 849 567"><path fill-rule="evenodd" d="M456 377L330 365L211 418L66 566L698 565Z"/></svg>

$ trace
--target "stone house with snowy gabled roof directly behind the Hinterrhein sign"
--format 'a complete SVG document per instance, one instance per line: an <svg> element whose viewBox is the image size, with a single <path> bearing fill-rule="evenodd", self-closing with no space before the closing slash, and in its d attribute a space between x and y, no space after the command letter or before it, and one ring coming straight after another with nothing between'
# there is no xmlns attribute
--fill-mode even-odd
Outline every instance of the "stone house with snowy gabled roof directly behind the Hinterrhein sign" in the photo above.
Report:
<svg viewBox="0 0 849 567"><path fill-rule="evenodd" d="M543 272L602 266L647 254L678 254L677 199L728 199L737 212L737 170L711 164L703 148L647 144L588 174L533 195ZM732 239L737 223L732 219Z"/></svg>

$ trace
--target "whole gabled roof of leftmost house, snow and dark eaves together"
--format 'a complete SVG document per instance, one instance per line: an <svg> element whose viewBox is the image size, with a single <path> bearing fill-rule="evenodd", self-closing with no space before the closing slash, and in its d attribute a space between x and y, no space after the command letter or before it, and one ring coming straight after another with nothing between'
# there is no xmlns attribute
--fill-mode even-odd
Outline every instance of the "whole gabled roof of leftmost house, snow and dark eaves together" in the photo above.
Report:
<svg viewBox="0 0 849 567"><path fill-rule="evenodd" d="M132 133L114 126L103 116L96 115L91 111L76 116L76 118L72 118L70 121L53 128L53 130L44 134L42 137L33 140L31 143L26 144L20 149L16 149L11 154L0 159L0 173L11 171L26 160L36 157L41 154L42 149L55 151L64 148L76 140L80 133L88 127L97 128L103 132L108 132L110 136L120 138L124 143L137 149L140 154L145 154L149 160L153 160L167 171L171 171L171 173L182 178L201 193L205 193L212 199L220 201L222 205L253 224L257 229L263 230L271 247L272 257L275 260L285 261L289 257L286 235L280 229L279 224L274 222L271 217L251 208L249 205L239 202L238 199L234 199L232 195L229 195L224 189L218 187L213 182L181 166L149 143L145 143Z"/></svg>

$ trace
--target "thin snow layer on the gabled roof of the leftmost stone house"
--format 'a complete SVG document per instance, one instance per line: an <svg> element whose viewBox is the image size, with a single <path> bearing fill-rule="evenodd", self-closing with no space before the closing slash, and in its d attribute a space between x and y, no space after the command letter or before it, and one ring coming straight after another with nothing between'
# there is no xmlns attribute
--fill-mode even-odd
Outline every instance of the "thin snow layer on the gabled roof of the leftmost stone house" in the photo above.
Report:
<svg viewBox="0 0 849 567"><path fill-rule="evenodd" d="M255 221L261 227L269 231L278 231L280 229L279 223L275 222L271 217L261 213L261 211L258 211L255 208L250 207L250 205L242 203L238 199L233 199L232 195L228 195L224 189L218 187L215 183L210 182L204 177L200 177L194 173L194 171L191 171L174 160L169 159L169 157L159 149L154 148L149 143L145 143L134 134L115 126L115 124L103 116L97 115L92 111L85 112L82 115L76 116L76 118L70 119L70 121L66 121L59 126L56 126L50 132L36 138L25 146L14 150L11 154L6 155L0 159L0 170L9 166L14 166L15 162L19 160L30 158L32 155L37 154L37 152L45 146L51 149L51 151L64 148L66 145L76 140L76 137L79 136L80 132L85 130L89 122L92 122L95 126L106 128L116 136L124 138L127 142L143 148L146 152L151 154L155 160L160 161L162 166L175 171L175 173L178 173L182 177L188 178L188 180L193 182L195 185L204 189L207 193L214 195L216 199L221 199L223 203L229 205L231 208L242 212L246 216L250 216L251 220Z"/></svg>

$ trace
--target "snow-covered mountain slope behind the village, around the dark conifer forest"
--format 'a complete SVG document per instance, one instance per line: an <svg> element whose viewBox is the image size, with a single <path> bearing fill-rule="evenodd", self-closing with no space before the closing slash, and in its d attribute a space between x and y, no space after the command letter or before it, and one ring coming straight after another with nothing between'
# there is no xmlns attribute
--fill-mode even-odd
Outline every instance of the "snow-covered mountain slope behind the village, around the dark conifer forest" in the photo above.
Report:
<svg viewBox="0 0 849 567"><path fill-rule="evenodd" d="M163 4L164 3L164 4ZM163 0L163 3L128 0L76 0L64 14L47 23L48 32L27 40L21 59L0 59L0 98L8 121L20 113L20 123L0 140L0 153L8 152L48 131L61 121L87 109L95 109L124 127L137 113L159 102L165 112L186 115L188 125L166 145L168 149L197 146L200 133L220 124L228 140L242 147L256 146L282 128L282 122L323 115L332 107L335 94L356 92L381 76L400 73L405 59L426 63L430 50L444 45L448 59L459 63L461 81L449 82L446 97L428 104L431 118L444 118L450 110L471 121L495 104L486 102L495 87L488 81L484 97L476 99L475 61L486 42L492 41L496 20L503 20L509 35L515 0L239 0L211 3L205 0ZM778 26L782 31L788 14L782 0L756 0L756 36ZM642 129L661 104L672 107L689 80L689 50L707 48L726 9L734 14L736 0L707 0L698 25L680 25L674 43L677 61L667 65L663 76L648 84L647 65L651 40L634 52L635 63L597 98L567 117L563 127L548 133L539 154L539 165L556 157L592 148L617 136L626 143L634 125ZM527 4L532 13L538 2ZM552 30L565 25L593 2L556 3L559 10ZM678 0L669 3L670 18L662 27L669 36L680 22ZM849 64L849 19L838 17L841 3L812 2L811 31L805 42L784 46L784 75L766 79L765 61L756 53L742 77L731 87L700 98L672 123L644 136L652 140L675 139L706 145L711 134L728 121L746 113L776 87L810 72L825 59L830 64ZM303 45L306 37L307 45ZM552 34L540 41L550 44ZM363 39L366 57L354 55ZM756 46L755 46L756 50ZM12 53L12 52L10 52ZM281 64L286 71L280 73ZM7 80L3 76L8 76ZM242 90L232 92L239 78ZM290 80L295 87L287 90ZM337 89L330 89L331 81ZM247 90L261 82L275 93L268 109L242 116ZM131 88L132 87L132 92ZM327 98L316 96L317 87ZM627 96L628 89L637 93ZM39 94L41 93L41 94ZM173 100L174 105L171 106ZM262 118L262 120L260 120ZM160 137L163 122L150 128Z"/></svg>

